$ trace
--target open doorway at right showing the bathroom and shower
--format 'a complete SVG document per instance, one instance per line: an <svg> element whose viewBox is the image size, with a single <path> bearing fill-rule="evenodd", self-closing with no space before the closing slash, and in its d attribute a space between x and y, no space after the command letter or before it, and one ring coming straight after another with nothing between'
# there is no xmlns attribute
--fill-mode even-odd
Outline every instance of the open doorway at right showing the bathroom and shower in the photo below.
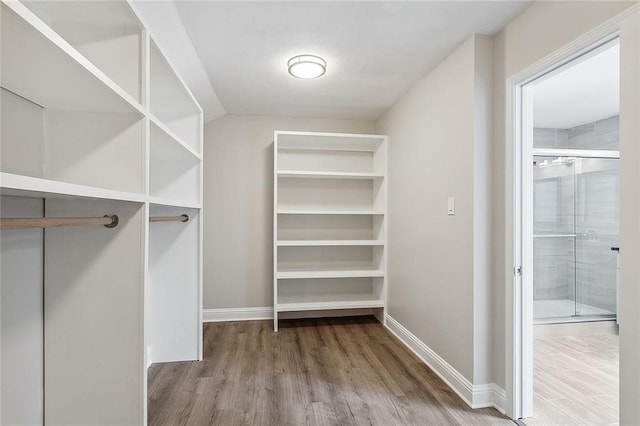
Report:
<svg viewBox="0 0 640 426"><path fill-rule="evenodd" d="M521 86L527 424L618 421L619 63L609 39Z"/></svg>

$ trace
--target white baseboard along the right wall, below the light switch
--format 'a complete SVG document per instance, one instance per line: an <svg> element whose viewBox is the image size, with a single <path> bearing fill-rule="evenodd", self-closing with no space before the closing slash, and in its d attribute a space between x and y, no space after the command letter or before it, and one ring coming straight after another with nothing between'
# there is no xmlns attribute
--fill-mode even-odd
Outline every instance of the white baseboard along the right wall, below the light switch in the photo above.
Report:
<svg viewBox="0 0 640 426"><path fill-rule="evenodd" d="M471 408L495 407L504 413L506 392L495 383L474 385L431 348L404 328L392 316L385 315L385 327L433 370Z"/></svg>

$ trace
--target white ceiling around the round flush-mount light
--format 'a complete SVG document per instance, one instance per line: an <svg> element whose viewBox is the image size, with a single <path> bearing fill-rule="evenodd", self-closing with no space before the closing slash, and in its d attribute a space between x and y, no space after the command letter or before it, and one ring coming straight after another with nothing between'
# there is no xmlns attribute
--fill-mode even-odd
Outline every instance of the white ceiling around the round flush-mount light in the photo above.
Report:
<svg viewBox="0 0 640 426"><path fill-rule="evenodd" d="M224 110L376 119L471 34L498 32L531 2L176 1ZM327 73L287 73L296 54ZM198 93L196 93L198 95Z"/></svg>

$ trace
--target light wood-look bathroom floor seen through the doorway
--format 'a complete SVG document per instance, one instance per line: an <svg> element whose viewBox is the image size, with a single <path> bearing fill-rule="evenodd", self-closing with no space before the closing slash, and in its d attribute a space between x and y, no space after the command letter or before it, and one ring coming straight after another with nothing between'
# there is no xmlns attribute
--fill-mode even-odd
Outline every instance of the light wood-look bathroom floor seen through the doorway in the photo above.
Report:
<svg viewBox="0 0 640 426"><path fill-rule="evenodd" d="M534 340L534 425L618 424L618 336Z"/></svg>

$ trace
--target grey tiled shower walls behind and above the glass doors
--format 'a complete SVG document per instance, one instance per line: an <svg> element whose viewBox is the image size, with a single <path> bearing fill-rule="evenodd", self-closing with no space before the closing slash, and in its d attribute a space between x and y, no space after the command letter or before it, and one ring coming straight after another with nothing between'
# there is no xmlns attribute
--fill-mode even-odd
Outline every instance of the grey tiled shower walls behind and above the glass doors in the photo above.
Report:
<svg viewBox="0 0 640 426"><path fill-rule="evenodd" d="M617 116L572 129L534 129L536 148L618 146ZM534 170L534 234L576 233L575 242L534 239L535 300L577 298L615 312L618 183L619 160L578 159Z"/></svg>

